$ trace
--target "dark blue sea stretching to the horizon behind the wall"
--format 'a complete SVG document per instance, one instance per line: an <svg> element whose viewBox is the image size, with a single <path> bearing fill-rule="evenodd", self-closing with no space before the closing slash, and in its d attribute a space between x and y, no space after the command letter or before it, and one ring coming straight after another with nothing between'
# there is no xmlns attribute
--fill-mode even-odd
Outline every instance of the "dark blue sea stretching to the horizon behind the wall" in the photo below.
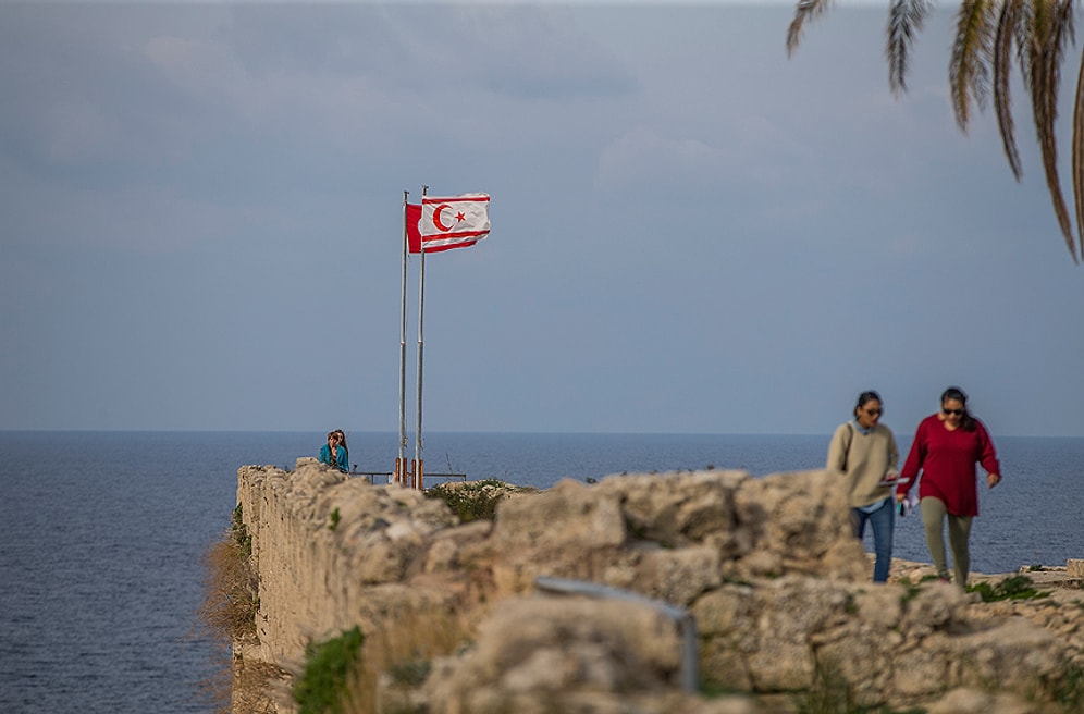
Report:
<svg viewBox="0 0 1084 714"><path fill-rule="evenodd" d="M434 432L423 457L427 473L546 489L711 467L816 469L828 439ZM293 468L323 442L323 432L0 432L0 712L213 712L201 686L221 672L222 651L195 623L237 469ZM397 434L348 442L356 470L392 470ZM995 443L1005 481L980 489L972 569L1084 557L1084 439ZM894 554L929 561L917 514L898 519Z"/></svg>

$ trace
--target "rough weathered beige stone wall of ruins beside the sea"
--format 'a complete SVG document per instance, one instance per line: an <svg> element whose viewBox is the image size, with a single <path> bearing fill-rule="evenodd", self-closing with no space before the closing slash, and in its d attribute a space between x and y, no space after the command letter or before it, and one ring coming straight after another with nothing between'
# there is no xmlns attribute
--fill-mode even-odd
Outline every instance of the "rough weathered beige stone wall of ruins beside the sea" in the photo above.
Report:
<svg viewBox="0 0 1084 714"><path fill-rule="evenodd" d="M385 677L385 711L774 712L826 681L863 706L959 706L968 692L1052 706L1067 667L1084 665L1080 641L976 614L950 586L870 583L840 489L824 471L566 480L459 525L440 500L315 459L243 467L259 613L258 642L236 656L297 672L307 643L355 625L377 641L455 619L472 645L420 687ZM640 601L546 594L540 576ZM680 638L644 599L694 616L705 687L750 694L681 691Z"/></svg>

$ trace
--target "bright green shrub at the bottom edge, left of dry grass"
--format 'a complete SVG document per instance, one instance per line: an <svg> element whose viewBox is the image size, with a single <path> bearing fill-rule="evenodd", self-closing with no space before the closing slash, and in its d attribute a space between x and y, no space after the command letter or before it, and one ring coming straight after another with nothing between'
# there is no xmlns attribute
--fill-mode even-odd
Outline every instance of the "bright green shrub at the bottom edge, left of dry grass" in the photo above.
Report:
<svg viewBox="0 0 1084 714"><path fill-rule="evenodd" d="M365 637L355 626L336 638L305 650L305 672L294 685L299 714L342 714Z"/></svg>

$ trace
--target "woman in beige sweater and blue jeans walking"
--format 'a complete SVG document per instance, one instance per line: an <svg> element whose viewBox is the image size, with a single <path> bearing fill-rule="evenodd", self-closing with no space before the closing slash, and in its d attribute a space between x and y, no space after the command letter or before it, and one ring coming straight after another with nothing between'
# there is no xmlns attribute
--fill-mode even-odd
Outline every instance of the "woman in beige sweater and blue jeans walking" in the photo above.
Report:
<svg viewBox="0 0 1084 714"><path fill-rule="evenodd" d="M900 460L892 430L880 423L884 406L876 392L862 392L854 405L854 418L840 424L828 444L828 470L847 478L848 500L854 537L873 529L876 561L873 581L887 582L892 562L892 485Z"/></svg>

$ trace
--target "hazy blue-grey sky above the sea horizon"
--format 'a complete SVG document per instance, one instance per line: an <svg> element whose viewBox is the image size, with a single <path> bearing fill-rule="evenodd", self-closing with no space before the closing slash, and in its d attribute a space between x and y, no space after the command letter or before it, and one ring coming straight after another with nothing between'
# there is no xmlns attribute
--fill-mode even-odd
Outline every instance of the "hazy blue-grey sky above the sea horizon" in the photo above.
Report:
<svg viewBox="0 0 1084 714"><path fill-rule="evenodd" d="M792 12L0 3L0 429L396 431L426 185L492 232L428 257L421 334L408 262L411 434L421 340L427 431L828 434L874 389L909 435L959 385L1084 436L1019 82L1018 183L948 11L902 97L884 4L788 58Z"/></svg>

